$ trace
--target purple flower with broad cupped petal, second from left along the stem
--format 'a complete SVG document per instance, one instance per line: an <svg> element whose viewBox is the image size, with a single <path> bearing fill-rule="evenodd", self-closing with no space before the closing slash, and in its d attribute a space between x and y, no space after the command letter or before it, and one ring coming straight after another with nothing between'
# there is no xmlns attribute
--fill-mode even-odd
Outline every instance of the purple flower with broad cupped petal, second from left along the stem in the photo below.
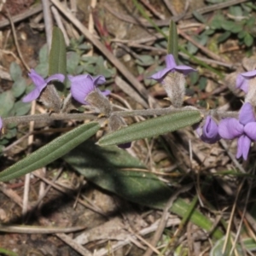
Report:
<svg viewBox="0 0 256 256"><path fill-rule="evenodd" d="M90 94L91 91L96 90L98 84L103 84L106 82L105 78L100 75L95 78L91 77L90 74L78 75L78 76L67 76L71 81L71 94L75 100L83 105L88 105L89 103L85 101L85 98ZM101 91L104 96L108 96L110 91Z"/></svg>

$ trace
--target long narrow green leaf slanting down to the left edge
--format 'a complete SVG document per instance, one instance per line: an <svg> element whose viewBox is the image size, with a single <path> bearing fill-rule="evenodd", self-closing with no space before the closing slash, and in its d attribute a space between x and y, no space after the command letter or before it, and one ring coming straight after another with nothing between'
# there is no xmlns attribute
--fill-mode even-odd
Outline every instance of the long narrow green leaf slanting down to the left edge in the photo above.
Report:
<svg viewBox="0 0 256 256"><path fill-rule="evenodd" d="M93 136L99 129L100 125L92 122L68 131L66 134L55 138L52 142L28 155L25 159L5 169L0 173L0 181L6 182L48 165Z"/></svg>

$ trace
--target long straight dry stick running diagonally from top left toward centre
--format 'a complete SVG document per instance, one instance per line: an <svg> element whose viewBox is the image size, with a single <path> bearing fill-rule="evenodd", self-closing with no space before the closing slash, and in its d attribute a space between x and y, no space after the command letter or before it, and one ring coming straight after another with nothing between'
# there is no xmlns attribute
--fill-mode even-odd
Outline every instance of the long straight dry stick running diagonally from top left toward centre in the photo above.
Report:
<svg viewBox="0 0 256 256"><path fill-rule="evenodd" d="M148 103L145 100L148 97L148 91L144 88L143 84L139 83L137 79L127 70L125 65L120 62L96 37L94 37L76 17L69 13L59 1L51 0L51 2L55 4L56 8L59 9L61 13L65 15L67 19L70 20L73 25L76 26L79 31L82 32L84 36L96 46L97 49L102 51L102 54L108 58L108 61L112 62L119 72L122 73L125 78L130 81L134 88L136 88L143 96L143 98L137 98L137 96L131 97L134 97L137 102L143 105L144 108L148 108Z"/></svg>

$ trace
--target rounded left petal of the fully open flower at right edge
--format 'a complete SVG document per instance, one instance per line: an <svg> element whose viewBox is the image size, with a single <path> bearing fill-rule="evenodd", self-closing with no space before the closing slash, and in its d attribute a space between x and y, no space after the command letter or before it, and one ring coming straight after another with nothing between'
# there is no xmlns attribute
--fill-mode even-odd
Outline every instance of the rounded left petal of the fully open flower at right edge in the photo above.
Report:
<svg viewBox="0 0 256 256"><path fill-rule="evenodd" d="M224 139L231 140L241 136L243 125L237 119L223 119L218 124L218 134Z"/></svg>

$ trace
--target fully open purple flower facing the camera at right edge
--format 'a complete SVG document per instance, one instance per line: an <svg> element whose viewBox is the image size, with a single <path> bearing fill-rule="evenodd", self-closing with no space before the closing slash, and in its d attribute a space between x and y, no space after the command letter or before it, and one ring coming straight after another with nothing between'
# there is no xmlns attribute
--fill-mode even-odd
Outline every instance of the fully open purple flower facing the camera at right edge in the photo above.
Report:
<svg viewBox="0 0 256 256"><path fill-rule="evenodd" d="M236 158L247 160L251 141L256 141L256 119L253 106L245 103L241 107L238 120L234 118L223 119L218 125L218 133L224 139L238 138Z"/></svg>

